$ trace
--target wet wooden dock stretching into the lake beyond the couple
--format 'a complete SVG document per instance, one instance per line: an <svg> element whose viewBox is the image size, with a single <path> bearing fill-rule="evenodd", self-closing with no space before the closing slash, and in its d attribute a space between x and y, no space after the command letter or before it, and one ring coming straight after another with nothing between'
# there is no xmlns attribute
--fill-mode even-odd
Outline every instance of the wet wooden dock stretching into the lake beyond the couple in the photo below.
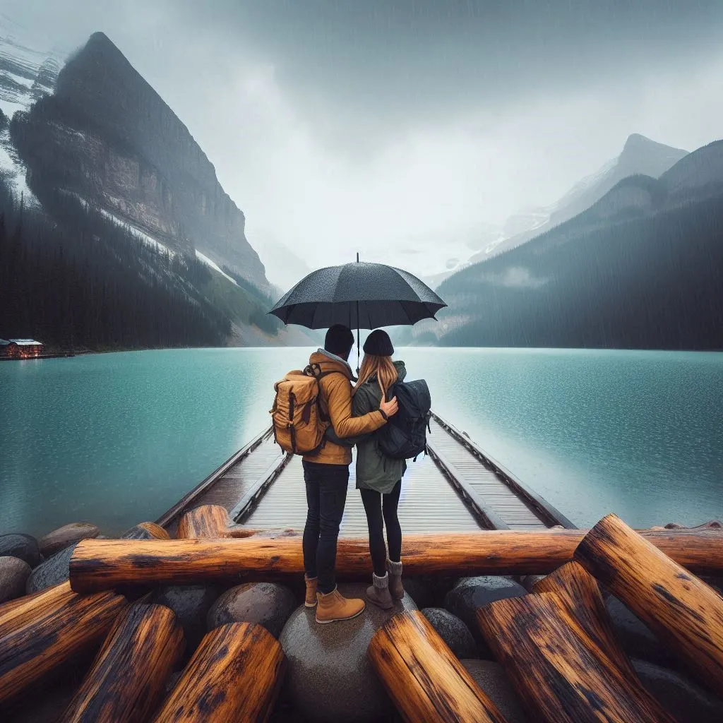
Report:
<svg viewBox="0 0 723 723"><path fill-rule="evenodd" d="M542 530L573 523L500 463L432 414L427 455L408 464L399 502L406 534L479 529ZM351 465L341 536L368 534ZM232 521L249 529L304 529L307 515L301 458L283 453L266 429L191 490L158 524L173 536L184 513L221 505Z"/></svg>

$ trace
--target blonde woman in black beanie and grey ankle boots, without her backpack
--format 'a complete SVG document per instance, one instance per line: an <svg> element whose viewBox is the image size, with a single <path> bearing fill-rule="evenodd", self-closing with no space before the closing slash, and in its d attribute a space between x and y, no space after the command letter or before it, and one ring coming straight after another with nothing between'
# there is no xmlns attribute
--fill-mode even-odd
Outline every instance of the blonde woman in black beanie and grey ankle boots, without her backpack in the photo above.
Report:
<svg viewBox="0 0 723 723"><path fill-rule="evenodd" d="M403 361L392 361L394 347L388 333L377 329L364 342L364 361L359 370L359 381L352 394L353 414L361 416L379 408L382 395L396 381L406 376ZM367 588L370 602L384 609L393 607L403 598L402 586L402 530L397 517L401 492L401 479L406 470L403 459L390 459L379 450L376 435L367 435L356 442L356 489L361 492L364 511L369 525L369 552L374 574L372 586ZM384 543L387 528L389 557Z"/></svg>

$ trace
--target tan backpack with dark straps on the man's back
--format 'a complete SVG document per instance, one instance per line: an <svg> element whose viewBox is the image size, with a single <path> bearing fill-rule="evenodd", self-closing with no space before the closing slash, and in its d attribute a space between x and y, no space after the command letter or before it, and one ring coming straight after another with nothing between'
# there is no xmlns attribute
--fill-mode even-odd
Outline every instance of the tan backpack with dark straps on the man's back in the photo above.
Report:
<svg viewBox="0 0 723 723"><path fill-rule="evenodd" d="M274 439L286 452L314 455L324 446L330 419L321 408L319 380L329 374L319 364L293 369L273 385L276 392L270 411Z"/></svg>

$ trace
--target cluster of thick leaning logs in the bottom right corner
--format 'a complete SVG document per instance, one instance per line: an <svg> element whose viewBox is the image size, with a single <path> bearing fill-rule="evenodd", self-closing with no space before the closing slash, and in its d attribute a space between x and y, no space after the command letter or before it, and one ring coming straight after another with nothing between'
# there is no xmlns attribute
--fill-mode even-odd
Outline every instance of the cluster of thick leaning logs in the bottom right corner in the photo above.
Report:
<svg viewBox="0 0 723 723"><path fill-rule="evenodd" d="M535 720L668 722L620 649L599 583L688 662L701 683L723 690L723 598L645 536L608 515L574 560L530 595L477 610L485 641Z"/></svg>

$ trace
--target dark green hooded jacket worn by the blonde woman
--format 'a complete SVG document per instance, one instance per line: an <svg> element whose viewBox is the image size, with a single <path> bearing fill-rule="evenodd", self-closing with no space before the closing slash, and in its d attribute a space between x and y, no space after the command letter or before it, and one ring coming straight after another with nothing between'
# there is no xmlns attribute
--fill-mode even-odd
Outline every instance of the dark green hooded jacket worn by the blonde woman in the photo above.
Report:
<svg viewBox="0 0 723 723"><path fill-rule="evenodd" d="M404 362L395 361L394 366L397 367L398 379L403 381L406 377ZM373 409L378 409L381 401L382 392L377 377L370 377L356 390L352 399L351 413L353 416L367 414ZM406 461L382 455L376 437L376 434L365 435L356 440L356 489L375 489L382 495L387 495L402 479L406 471Z"/></svg>

